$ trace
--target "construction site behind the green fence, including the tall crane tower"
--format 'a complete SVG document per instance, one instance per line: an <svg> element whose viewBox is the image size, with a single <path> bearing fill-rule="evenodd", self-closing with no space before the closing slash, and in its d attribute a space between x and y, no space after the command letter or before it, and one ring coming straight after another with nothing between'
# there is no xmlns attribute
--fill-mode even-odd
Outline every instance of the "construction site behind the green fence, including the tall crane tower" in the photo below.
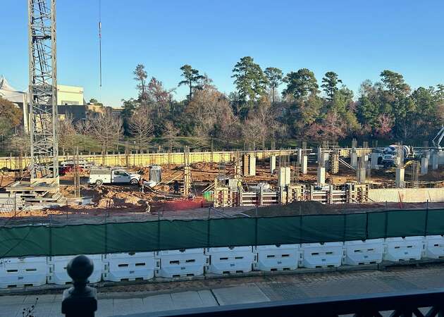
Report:
<svg viewBox="0 0 444 317"><path fill-rule="evenodd" d="M55 10L56 1L28 4L30 156L0 158L0 216L8 223L61 214L80 222L103 214L205 218L208 208L223 216L226 209L294 202L329 206L319 213L444 202L444 128L424 147L352 139L348 147L301 140L276 149L272 139L270 149L149 152L142 144L131 150L127 141L124 153L74 147L62 156ZM304 213L300 206L295 213Z"/></svg>

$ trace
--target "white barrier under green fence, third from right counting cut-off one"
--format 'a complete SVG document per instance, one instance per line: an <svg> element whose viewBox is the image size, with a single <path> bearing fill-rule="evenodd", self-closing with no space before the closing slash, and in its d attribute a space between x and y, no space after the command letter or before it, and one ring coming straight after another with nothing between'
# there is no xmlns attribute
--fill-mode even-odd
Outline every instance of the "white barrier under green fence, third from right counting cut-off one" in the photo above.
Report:
<svg viewBox="0 0 444 317"><path fill-rule="evenodd" d="M359 266L381 263L384 253L383 239L355 240L344 242L343 264Z"/></svg>

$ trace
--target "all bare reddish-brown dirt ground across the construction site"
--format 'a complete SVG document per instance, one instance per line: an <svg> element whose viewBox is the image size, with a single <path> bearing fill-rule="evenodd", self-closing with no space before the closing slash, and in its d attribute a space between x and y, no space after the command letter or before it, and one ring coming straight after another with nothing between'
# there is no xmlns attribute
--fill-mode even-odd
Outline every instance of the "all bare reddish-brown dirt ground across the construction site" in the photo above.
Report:
<svg viewBox="0 0 444 317"><path fill-rule="evenodd" d="M149 168L130 168L132 172L142 174L142 178L149 179ZM269 182L271 187L277 184L277 175L271 175L269 163L257 162L257 175L247 176L243 179L245 185L257 182ZM145 221L157 218L180 219L180 218L207 218L208 203L202 199L204 189L214 182L218 175L234 175L233 164L227 163L224 170L220 170L218 163L196 163L191 166L192 194L194 197L181 197L174 195L171 185L174 180L183 179L181 166L162 166L162 183L153 189L145 187L140 192L139 187L132 185L87 185L87 171L81 173L80 196L83 199L74 198L73 173L61 176L61 192L67 198L64 206L51 206L43 210L24 210L16 213L0 213L0 223L101 223L103 221ZM0 174L0 190L16 178L16 173L4 172ZM386 170L372 170L371 181L375 187L391 187L394 182L394 172ZM326 173L327 182L342 184L352 182L356 179L354 170L340 166L340 173L330 175ZM406 181L409 181L409 170L406 169ZM309 165L307 175L299 175L299 182L316 182L316 165ZM419 177L420 182L430 182L428 187L443 187L444 169L430 170L427 175ZM424 208L418 204L389 204L390 206L378 204L359 204L356 206L347 204L346 209L352 212L365 210L381 210L386 208ZM432 206L429 206L433 208ZM437 205L436 208L442 207ZM250 207L251 208L251 207ZM234 215L244 211L249 216L255 216L255 209L249 208L224 209L224 213ZM283 216L292 214L319 214L343 212L343 205L326 206L314 201L297 202L288 206L260 208L259 216ZM211 213L211 216L221 216ZM11 220L12 219L12 220Z"/></svg>

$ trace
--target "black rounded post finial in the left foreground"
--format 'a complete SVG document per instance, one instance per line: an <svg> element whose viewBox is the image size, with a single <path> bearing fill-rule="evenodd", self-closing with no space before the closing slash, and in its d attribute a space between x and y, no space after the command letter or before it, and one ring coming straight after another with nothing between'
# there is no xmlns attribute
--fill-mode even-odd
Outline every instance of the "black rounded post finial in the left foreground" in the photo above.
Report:
<svg viewBox="0 0 444 317"><path fill-rule="evenodd" d="M75 256L69 261L66 271L73 279L73 287L63 291L62 313L66 317L94 317L97 311L97 290L87 286L93 270L94 263L87 256Z"/></svg>

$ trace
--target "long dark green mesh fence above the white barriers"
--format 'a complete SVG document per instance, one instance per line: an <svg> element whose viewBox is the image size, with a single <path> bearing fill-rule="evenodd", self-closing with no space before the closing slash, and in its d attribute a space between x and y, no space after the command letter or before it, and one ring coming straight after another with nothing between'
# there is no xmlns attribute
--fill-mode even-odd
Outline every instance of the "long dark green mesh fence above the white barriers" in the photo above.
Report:
<svg viewBox="0 0 444 317"><path fill-rule="evenodd" d="M444 209L0 228L0 258L443 235Z"/></svg>

